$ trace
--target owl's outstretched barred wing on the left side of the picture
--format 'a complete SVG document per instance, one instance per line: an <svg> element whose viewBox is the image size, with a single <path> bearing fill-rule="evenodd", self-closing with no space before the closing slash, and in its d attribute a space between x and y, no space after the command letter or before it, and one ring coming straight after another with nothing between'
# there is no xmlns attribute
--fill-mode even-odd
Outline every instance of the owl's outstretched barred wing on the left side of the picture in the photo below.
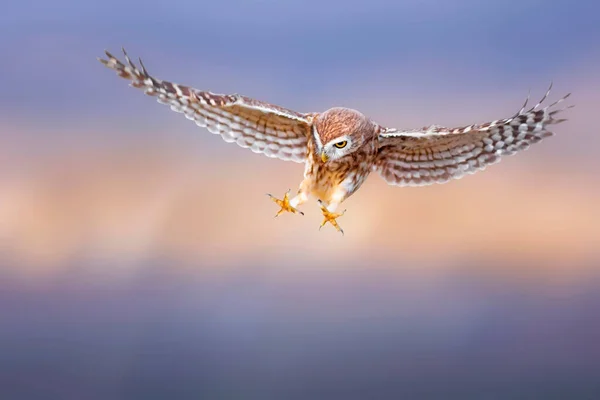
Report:
<svg viewBox="0 0 600 400"><path fill-rule="evenodd" d="M130 86L156 96L159 103L183 113L198 126L219 134L255 153L304 162L310 116L238 94L224 95L162 81L150 76L140 59L138 68L123 54L126 63L105 51L108 60L98 60L117 75L131 81Z"/></svg>

